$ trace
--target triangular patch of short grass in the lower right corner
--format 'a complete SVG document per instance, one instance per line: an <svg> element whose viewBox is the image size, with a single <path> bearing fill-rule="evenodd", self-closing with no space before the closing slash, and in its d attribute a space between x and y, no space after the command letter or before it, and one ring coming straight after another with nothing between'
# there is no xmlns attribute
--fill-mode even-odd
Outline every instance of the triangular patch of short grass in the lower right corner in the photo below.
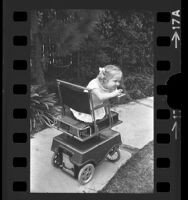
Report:
<svg viewBox="0 0 188 200"><path fill-rule="evenodd" d="M99 193L152 193L153 142L135 153Z"/></svg>

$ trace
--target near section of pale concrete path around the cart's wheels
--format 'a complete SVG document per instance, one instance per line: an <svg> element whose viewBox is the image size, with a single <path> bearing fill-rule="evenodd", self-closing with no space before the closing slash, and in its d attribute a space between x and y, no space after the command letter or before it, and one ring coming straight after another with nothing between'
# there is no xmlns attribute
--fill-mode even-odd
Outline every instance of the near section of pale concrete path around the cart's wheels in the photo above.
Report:
<svg viewBox="0 0 188 200"><path fill-rule="evenodd" d="M77 180L51 165L53 152L50 150L52 139L61 132L45 129L31 139L31 192L42 193L80 193L97 192L113 177L118 168L131 157L129 152L121 150L121 159L116 163L102 162L96 167L91 182L81 186ZM104 170L105 169L105 170ZM102 174L102 178L101 178Z"/></svg>

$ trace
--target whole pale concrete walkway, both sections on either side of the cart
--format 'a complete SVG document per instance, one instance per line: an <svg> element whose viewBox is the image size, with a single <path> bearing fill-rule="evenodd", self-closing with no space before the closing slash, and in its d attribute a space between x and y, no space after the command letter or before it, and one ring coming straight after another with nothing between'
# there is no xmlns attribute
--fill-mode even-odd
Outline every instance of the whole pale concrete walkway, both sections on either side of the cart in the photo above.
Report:
<svg viewBox="0 0 188 200"><path fill-rule="evenodd" d="M153 98L142 99L113 108L119 112L122 124L114 127L121 133L126 145L142 148L153 140ZM121 159L116 163L102 162L96 167L93 179L79 185L70 175L51 165L52 139L61 132L48 128L31 139L30 192L33 193L96 193L114 176L117 170L131 157L131 153L120 149Z"/></svg>

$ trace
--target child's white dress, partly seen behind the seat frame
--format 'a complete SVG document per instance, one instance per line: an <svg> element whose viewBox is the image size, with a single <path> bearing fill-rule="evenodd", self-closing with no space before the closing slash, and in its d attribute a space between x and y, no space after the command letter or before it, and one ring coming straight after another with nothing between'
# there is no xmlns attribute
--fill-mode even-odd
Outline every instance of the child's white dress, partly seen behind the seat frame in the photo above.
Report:
<svg viewBox="0 0 188 200"><path fill-rule="evenodd" d="M101 92L109 92L107 89L103 88L102 85L100 84L98 78L95 78L93 80L91 80L89 82L89 84L87 85L88 89L99 89L101 90ZM94 93L92 93L92 99L93 99L93 104L94 107L103 104L103 101L101 101ZM93 122L92 116L86 113L81 113L78 112L76 110L73 110L72 108L70 108L70 110L72 111L74 117L76 117L77 119L84 121L84 122ZM102 108L98 108L94 111L95 113L95 119L102 119L105 116L105 109L104 107Z"/></svg>

